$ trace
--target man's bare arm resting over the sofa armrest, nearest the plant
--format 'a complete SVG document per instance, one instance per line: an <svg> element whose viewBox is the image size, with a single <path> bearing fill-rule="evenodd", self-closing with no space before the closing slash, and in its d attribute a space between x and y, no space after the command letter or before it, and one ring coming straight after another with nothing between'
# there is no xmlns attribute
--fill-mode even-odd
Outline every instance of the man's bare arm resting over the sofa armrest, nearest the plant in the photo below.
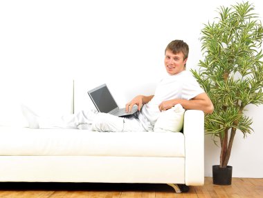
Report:
<svg viewBox="0 0 263 198"><path fill-rule="evenodd" d="M185 109L195 109L195 110L202 110L205 113L211 114L214 111L214 106L212 104L212 101L206 95L206 93L201 93L200 95L197 95L196 97L185 100L185 99L172 99L169 101L163 101L159 105L160 110L167 110L175 106L176 104L180 103L181 106Z"/></svg>

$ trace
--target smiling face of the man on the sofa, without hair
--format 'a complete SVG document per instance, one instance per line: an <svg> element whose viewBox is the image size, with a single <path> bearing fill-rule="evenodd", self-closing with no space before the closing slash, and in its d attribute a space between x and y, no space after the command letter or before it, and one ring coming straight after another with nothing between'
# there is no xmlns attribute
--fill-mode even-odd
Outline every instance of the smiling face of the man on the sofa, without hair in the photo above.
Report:
<svg viewBox="0 0 263 198"><path fill-rule="evenodd" d="M187 59L183 60L183 52L174 55L171 50L165 52L165 68L168 74L177 75L185 70L185 63Z"/></svg>

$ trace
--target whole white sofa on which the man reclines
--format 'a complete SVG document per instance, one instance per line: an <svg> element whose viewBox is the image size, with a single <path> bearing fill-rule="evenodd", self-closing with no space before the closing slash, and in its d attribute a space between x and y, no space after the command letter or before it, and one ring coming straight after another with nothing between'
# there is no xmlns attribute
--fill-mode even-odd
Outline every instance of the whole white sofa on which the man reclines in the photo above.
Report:
<svg viewBox="0 0 263 198"><path fill-rule="evenodd" d="M44 115L73 113L87 94L73 81L0 86L0 181L203 185L203 112L187 110L182 132L30 129L19 103ZM79 92L82 92L80 94Z"/></svg>

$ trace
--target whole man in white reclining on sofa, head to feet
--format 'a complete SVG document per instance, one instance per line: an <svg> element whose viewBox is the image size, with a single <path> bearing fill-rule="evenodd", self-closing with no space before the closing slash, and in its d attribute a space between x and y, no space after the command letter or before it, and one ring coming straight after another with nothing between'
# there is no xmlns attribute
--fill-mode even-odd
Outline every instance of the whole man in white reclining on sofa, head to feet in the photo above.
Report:
<svg viewBox="0 0 263 198"><path fill-rule="evenodd" d="M105 113L81 111L57 121L43 119L24 107L24 115L30 128L79 128L97 131L152 131L161 111L180 103L185 109L203 110L212 113L213 105L208 95L200 88L192 74L185 70L188 60L188 44L181 40L170 42L165 49L165 76L151 96L138 95L126 105L130 111L136 104L138 112L129 117L116 117Z"/></svg>

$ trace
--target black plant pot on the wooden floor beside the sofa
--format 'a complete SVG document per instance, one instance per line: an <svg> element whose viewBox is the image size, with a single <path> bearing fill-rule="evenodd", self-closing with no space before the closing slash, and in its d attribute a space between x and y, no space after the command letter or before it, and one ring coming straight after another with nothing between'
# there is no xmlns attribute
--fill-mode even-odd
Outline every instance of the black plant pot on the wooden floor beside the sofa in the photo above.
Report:
<svg viewBox="0 0 263 198"><path fill-rule="evenodd" d="M219 165L212 166L212 183L217 185L231 185L232 166L220 168Z"/></svg>

